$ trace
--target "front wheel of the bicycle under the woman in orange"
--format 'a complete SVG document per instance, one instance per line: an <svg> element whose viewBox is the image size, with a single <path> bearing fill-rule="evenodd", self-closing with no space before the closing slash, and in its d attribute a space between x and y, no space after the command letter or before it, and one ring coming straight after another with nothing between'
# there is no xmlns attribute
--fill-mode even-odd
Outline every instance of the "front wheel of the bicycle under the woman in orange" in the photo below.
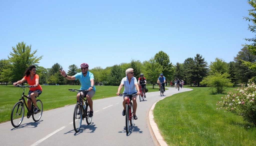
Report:
<svg viewBox="0 0 256 146"><path fill-rule="evenodd" d="M12 109L11 113L11 123L13 127L19 127L24 117L24 106L23 102L17 102Z"/></svg>

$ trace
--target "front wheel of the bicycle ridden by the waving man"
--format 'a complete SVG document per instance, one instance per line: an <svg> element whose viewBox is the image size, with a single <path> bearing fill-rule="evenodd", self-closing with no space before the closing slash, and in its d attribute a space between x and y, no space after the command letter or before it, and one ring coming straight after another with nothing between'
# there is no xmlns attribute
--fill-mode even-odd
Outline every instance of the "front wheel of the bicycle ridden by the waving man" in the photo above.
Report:
<svg viewBox="0 0 256 146"><path fill-rule="evenodd" d="M74 116L73 116L73 125L74 125L74 130L78 132L81 128L82 124L82 107L80 103L77 103L74 109Z"/></svg>

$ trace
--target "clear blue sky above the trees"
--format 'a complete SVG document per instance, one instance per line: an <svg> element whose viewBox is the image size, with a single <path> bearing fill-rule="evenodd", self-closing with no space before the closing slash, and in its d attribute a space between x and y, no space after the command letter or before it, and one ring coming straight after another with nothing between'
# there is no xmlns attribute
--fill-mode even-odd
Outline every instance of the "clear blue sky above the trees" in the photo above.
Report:
<svg viewBox="0 0 256 146"><path fill-rule="evenodd" d="M1 1L0 59L24 41L39 66L86 62L89 69L132 59L149 60L159 51L170 62L202 55L210 64L226 62L253 38L246 0ZM248 43L248 42L247 42Z"/></svg>

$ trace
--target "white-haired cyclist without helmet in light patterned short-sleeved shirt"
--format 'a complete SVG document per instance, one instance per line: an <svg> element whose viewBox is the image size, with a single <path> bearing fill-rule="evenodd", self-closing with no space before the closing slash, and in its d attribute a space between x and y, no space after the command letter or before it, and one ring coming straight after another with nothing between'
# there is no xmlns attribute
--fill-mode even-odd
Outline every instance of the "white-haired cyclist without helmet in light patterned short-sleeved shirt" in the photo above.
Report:
<svg viewBox="0 0 256 146"><path fill-rule="evenodd" d="M140 95L140 89L138 86L138 82L136 77L134 77L134 73L133 73L133 69L129 68L125 71L126 77L124 77L118 87L118 91L116 93L116 95L120 94L120 90L122 89L122 87L124 86L124 94L136 94ZM136 91L137 90L137 91ZM125 103L127 103L127 100L129 100L129 97L127 97L126 95L123 96L124 101L123 101L123 112L122 115L125 116ZM136 102L137 96L132 96L132 102L133 102L133 118L134 120L137 120L138 117L136 116L136 109L137 109L137 102Z"/></svg>

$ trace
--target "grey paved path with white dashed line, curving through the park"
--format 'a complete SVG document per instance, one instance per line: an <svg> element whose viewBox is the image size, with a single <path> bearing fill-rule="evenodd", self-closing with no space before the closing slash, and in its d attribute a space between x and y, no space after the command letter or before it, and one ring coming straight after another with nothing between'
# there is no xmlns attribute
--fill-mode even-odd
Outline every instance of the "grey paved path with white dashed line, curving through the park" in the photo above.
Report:
<svg viewBox="0 0 256 146"><path fill-rule="evenodd" d="M148 125L148 111L158 100L190 90L183 88L178 91L175 88L169 88L164 96L160 96L160 92L150 92L146 93L147 97L142 102L137 97L136 115L138 119L134 120L129 134L126 134L125 131L125 116L122 116L123 97L121 96L93 100L92 123L87 125L84 119L78 133L73 129L75 104L44 111L38 122L34 122L32 117L27 119L25 109L25 117L18 128L14 128L10 121L0 124L0 143L3 146L65 146L74 144L155 146L156 143ZM74 96L74 103L75 98ZM42 103L44 104L44 101Z"/></svg>

